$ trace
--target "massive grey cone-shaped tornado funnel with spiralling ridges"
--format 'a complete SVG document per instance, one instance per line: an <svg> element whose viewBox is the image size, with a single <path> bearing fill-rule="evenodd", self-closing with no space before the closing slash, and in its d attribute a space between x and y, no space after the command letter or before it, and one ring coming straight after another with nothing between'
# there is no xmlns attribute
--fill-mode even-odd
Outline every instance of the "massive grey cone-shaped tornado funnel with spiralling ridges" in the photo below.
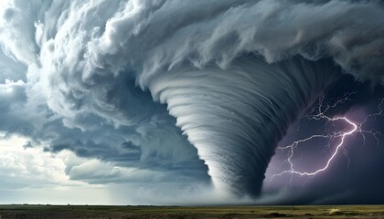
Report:
<svg viewBox="0 0 384 219"><path fill-rule="evenodd" d="M215 188L256 197L277 142L336 75L326 61L241 57L226 69L177 68L149 89L197 148Z"/></svg>

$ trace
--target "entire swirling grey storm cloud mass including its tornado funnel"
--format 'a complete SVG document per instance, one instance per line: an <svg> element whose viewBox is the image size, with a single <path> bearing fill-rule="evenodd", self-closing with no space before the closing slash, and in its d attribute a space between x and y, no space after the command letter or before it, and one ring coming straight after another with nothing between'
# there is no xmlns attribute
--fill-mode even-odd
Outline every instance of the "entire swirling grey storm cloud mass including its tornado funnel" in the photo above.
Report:
<svg viewBox="0 0 384 219"><path fill-rule="evenodd" d="M0 65L15 90L1 130L208 182L206 162L217 189L240 195L260 193L277 142L340 71L383 83L378 1L15 0L0 13L15 60ZM121 174L75 170L93 183Z"/></svg>

